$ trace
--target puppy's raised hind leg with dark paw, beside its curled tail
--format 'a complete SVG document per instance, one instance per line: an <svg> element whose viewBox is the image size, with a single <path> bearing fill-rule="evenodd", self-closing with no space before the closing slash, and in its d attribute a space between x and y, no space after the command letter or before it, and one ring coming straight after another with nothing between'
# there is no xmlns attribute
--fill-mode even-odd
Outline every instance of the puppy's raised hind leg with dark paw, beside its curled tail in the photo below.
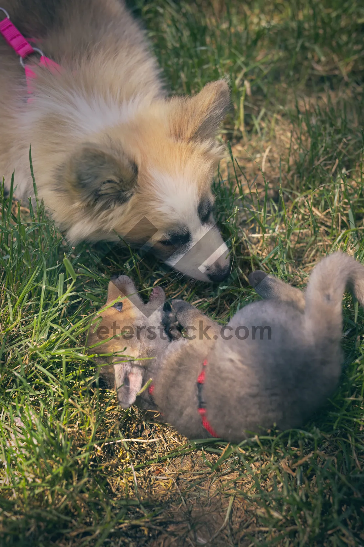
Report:
<svg viewBox="0 0 364 547"><path fill-rule="evenodd" d="M289 302L294 305L297 310L305 311L305 294L300 290L292 287L288 283L265 274L261 270L255 270L249 274L249 283L262 298L266 300L280 300L281 302Z"/></svg>

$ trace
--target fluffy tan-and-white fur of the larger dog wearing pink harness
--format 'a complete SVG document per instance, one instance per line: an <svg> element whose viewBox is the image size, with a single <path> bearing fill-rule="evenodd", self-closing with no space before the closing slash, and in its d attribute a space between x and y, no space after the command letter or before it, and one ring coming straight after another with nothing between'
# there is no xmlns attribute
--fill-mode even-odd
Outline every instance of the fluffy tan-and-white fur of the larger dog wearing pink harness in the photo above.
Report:
<svg viewBox="0 0 364 547"><path fill-rule="evenodd" d="M207 84L194 97L167 97L144 33L119 0L3 0L2 6L62 72L35 67L28 103L19 59L0 37L0 176L9 184L15 169L16 195L32 196L31 145L38 195L72 243L118 241L144 217L158 229L157 253L157 241L181 223L198 239L199 201L213 201L212 176L223 152L214 136L229 107L226 82ZM90 169L80 171L85 147L96 154L94 178ZM218 230L211 234L210 254L223 243ZM129 241L144 242L138 230ZM207 274L185 273L207 281L218 266L227 275L226 255Z"/></svg>

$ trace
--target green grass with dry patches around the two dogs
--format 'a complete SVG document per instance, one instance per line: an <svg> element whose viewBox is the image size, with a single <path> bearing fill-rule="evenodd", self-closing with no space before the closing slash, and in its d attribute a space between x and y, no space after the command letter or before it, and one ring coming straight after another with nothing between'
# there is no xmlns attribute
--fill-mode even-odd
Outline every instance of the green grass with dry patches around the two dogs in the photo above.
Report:
<svg viewBox="0 0 364 547"><path fill-rule="evenodd" d="M190 443L119 409L114 393L92 388L84 347L116 271L225 322L257 298L252 269L304 286L327 252L364 263L362 3L136 0L133 9L171 90L230 78L235 112L222 138L234 162L222 162L214 189L232 273L220 287L191 283L127 249L70 249L41 205L21 209L2 192L0 540L364 545L364 313L350 296L335 395L303 430L237 447Z"/></svg>

